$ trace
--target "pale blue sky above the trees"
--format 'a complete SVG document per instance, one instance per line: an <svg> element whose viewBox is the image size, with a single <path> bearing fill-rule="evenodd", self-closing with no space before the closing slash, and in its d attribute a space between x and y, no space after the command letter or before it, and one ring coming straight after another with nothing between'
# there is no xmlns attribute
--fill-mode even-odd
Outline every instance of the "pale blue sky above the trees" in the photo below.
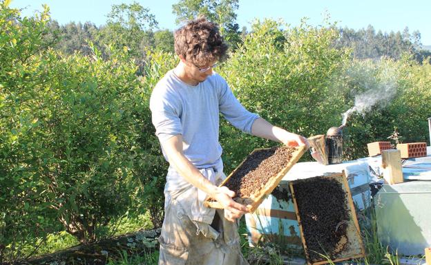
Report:
<svg viewBox="0 0 431 265"><path fill-rule="evenodd" d="M172 4L178 0L146 0L139 1L149 8L151 14L159 22L159 28L174 30L175 16L172 14ZM106 22L106 14L111 5L132 3L129 0L12 0L14 8L26 8L24 15L31 15L35 10L41 10L43 3L50 7L51 17L64 24L70 21L91 21L96 25ZM237 22L240 27L247 26L253 19L272 18L283 19L292 26L298 25L303 17L309 18L311 25L323 21L323 13L329 13L330 21L337 21L339 26L347 26L358 30L372 25L383 32L403 31L408 27L410 33L421 32L423 45L431 45L430 0L399 1L399 0L240 0L237 10Z"/></svg>

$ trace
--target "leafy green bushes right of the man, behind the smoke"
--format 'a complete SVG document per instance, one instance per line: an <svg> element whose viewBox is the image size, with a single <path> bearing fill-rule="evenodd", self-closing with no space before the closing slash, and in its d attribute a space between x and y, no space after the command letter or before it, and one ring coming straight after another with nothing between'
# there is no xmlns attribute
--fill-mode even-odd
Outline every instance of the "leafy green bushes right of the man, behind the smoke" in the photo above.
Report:
<svg viewBox="0 0 431 265"><path fill-rule="evenodd" d="M247 109L274 125L311 136L341 125L341 114L354 107L356 98L370 95L370 107L354 112L344 129L346 160L367 156L366 144L387 140L394 129L408 142L428 138L429 63L419 65L411 54L399 61L351 59L348 50L334 47L338 32L330 24L312 28L303 21L284 31L281 25L257 21L222 68ZM274 145L227 123L222 123L220 139L227 171L254 148Z"/></svg>

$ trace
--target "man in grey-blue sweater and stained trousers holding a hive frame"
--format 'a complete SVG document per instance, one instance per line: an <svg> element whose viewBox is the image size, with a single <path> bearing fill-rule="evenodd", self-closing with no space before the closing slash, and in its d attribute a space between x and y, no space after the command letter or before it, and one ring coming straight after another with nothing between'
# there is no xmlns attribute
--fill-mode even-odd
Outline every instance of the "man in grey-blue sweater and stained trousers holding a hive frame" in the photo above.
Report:
<svg viewBox="0 0 431 265"><path fill-rule="evenodd" d="M308 142L248 112L213 71L227 52L217 25L203 17L190 21L175 32L175 52L180 63L157 83L150 100L155 134L170 164L159 264L248 264L236 222L247 208L232 200L233 191L218 187L226 178L219 113L254 136L290 146ZM205 207L207 196L224 209Z"/></svg>

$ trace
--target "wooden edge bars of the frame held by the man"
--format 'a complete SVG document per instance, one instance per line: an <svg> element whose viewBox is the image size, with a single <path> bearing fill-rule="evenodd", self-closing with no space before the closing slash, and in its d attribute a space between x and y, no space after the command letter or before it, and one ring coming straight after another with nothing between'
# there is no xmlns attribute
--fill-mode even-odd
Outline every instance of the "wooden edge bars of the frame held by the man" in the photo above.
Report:
<svg viewBox="0 0 431 265"><path fill-rule="evenodd" d="M250 155L256 151L264 150L264 149L269 149L269 148L254 149L250 153ZM305 146L296 147L296 151L294 151L294 153L291 153L291 159L287 163L286 167L284 167L280 172L278 172L278 174L276 176L270 178L269 181L265 184L265 186L262 187L262 189L257 191L255 194L252 194L250 196L250 198L238 198L239 202L242 204L245 204L245 205L249 205L248 209L250 212L255 211L258 208L258 206L260 205L260 203L262 203L262 200L265 199L265 196L268 195L269 193L271 193L277 187L278 183L280 183L282 178L286 175L287 171L289 171L291 169L291 167L293 167L296 164L296 162L298 162L299 158L301 158L301 156L303 156L305 151L307 151L307 147L305 147ZM247 156L247 158L248 158L248 156ZM242 167L242 165L247 160L247 158L245 158L245 160L242 160L240 165L238 165L238 167L236 167L236 169L234 169L229 174L229 176L227 176L227 178L222 182L222 184L220 184L219 187L224 186L224 184L229 181L229 178L231 178L231 176L233 176L233 174L235 174L236 171L238 171L238 169L240 169ZM223 208L219 202L212 201L211 198L207 198L207 200L204 201L204 206L215 208L215 209L222 209Z"/></svg>

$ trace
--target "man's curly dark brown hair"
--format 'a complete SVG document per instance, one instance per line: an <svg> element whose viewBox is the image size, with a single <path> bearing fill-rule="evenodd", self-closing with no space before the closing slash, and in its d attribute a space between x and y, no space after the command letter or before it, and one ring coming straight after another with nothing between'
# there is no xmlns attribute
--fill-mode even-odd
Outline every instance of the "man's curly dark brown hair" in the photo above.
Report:
<svg viewBox="0 0 431 265"><path fill-rule="evenodd" d="M186 61L205 66L226 57L227 44L224 43L218 25L205 17L189 21L175 31L175 52Z"/></svg>

